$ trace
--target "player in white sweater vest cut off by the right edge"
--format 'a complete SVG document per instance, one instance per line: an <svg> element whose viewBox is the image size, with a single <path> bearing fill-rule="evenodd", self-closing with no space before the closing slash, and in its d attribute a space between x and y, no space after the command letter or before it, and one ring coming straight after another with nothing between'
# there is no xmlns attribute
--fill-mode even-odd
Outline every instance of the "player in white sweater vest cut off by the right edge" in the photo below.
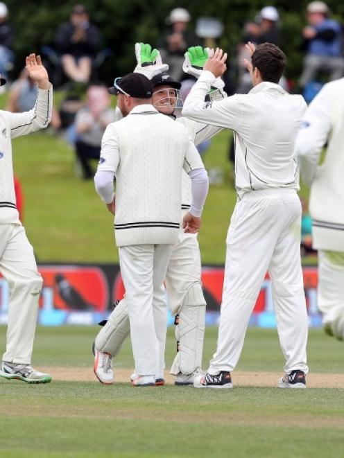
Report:
<svg viewBox="0 0 344 458"><path fill-rule="evenodd" d="M344 340L344 78L329 82L313 99L295 149L301 176L311 188L313 248L318 249L319 263L318 307L325 331Z"/></svg>

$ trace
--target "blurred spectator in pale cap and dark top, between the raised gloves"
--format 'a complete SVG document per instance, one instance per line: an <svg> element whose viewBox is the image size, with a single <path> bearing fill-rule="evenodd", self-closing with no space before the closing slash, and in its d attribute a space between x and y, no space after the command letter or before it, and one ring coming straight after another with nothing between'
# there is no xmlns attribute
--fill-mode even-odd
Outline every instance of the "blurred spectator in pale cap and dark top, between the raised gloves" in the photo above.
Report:
<svg viewBox="0 0 344 458"><path fill-rule="evenodd" d="M194 33L187 30L187 24L191 17L189 11L184 8L175 8L166 19L171 27L158 42L162 60L169 64L169 75L178 81L182 78L182 64L184 53L190 46L197 46L199 40Z"/></svg>

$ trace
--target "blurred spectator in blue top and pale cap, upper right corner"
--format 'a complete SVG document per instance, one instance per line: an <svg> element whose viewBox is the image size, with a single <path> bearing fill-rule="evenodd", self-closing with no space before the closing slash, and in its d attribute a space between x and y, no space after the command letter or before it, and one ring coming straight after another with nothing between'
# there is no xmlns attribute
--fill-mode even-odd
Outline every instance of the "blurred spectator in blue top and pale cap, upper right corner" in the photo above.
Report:
<svg viewBox="0 0 344 458"><path fill-rule="evenodd" d="M341 57L341 25L329 19L329 8L322 1L312 1L307 6L309 26L303 29L307 55L300 77L300 87L315 80L320 71L328 71L330 80L338 80L344 73Z"/></svg>

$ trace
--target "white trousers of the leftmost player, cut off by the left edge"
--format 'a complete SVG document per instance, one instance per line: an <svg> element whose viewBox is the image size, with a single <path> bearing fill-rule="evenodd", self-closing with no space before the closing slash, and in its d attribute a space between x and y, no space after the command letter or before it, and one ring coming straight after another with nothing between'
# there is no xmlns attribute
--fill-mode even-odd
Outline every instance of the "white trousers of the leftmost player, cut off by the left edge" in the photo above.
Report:
<svg viewBox="0 0 344 458"><path fill-rule="evenodd" d="M0 272L10 285L3 361L30 364L42 277L21 224L0 224Z"/></svg>

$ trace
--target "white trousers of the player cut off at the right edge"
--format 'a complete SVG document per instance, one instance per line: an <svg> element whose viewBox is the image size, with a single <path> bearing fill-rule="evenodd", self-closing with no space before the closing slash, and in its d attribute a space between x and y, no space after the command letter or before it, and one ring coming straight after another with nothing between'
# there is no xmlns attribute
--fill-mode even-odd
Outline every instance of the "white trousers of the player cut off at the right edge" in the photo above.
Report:
<svg viewBox="0 0 344 458"><path fill-rule="evenodd" d="M324 324L344 310L344 252L318 251L318 308Z"/></svg>

